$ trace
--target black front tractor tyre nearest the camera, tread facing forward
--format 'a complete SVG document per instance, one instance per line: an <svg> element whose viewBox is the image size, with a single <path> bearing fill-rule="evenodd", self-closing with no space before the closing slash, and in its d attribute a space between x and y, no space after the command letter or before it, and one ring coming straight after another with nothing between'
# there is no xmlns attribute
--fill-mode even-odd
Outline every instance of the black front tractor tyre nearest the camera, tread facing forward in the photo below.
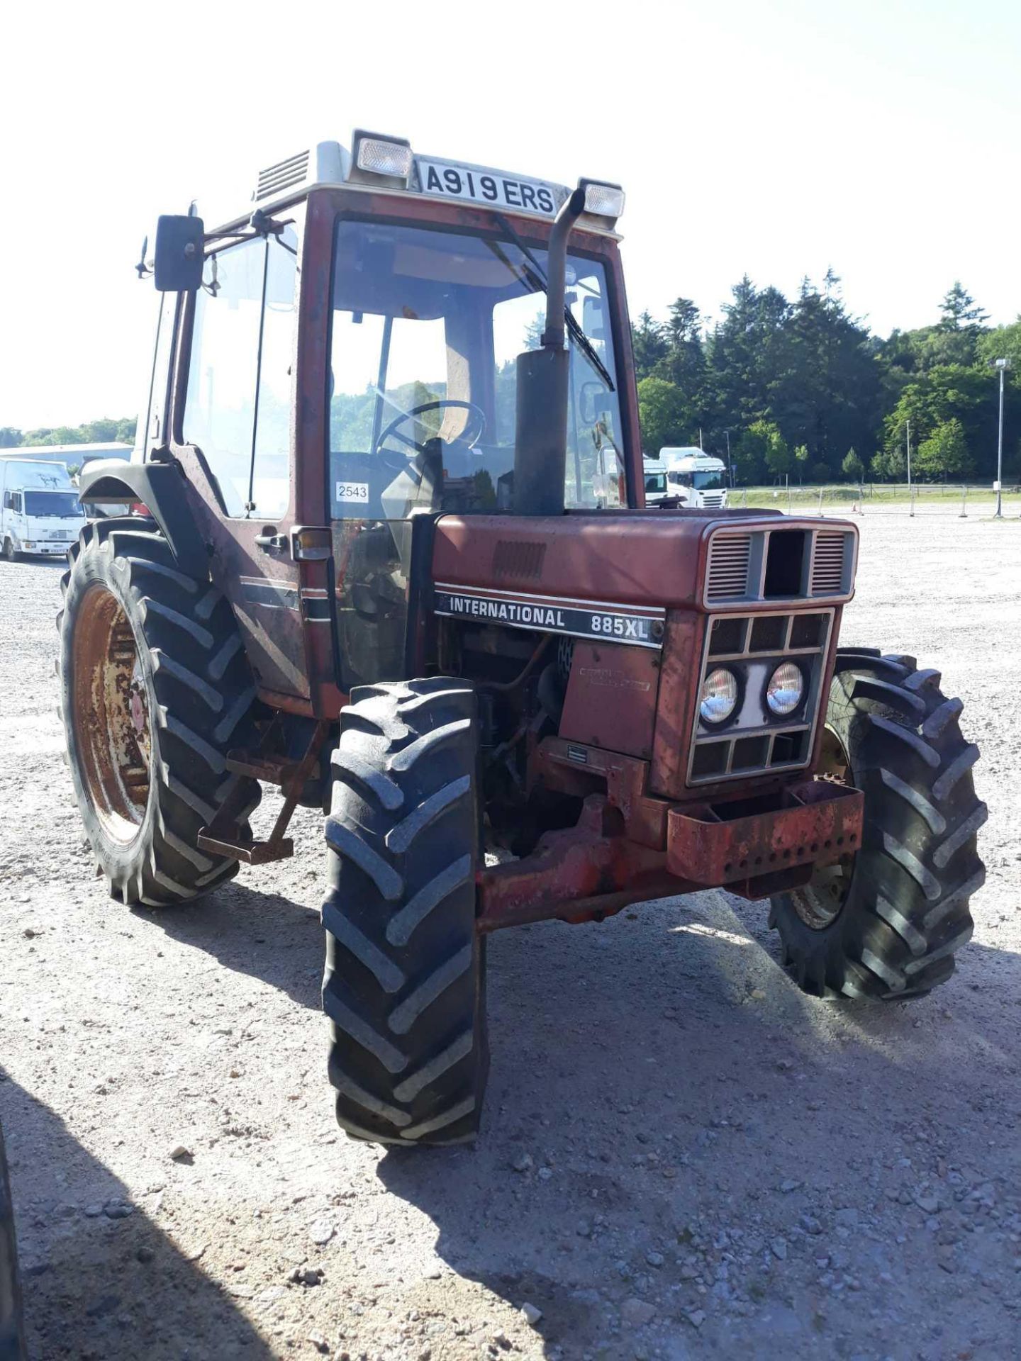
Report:
<svg viewBox="0 0 1021 1361"><path fill-rule="evenodd" d="M336 1117L355 1139L464 1143L489 1068L475 691L437 678L359 686L351 701L323 905Z"/></svg>

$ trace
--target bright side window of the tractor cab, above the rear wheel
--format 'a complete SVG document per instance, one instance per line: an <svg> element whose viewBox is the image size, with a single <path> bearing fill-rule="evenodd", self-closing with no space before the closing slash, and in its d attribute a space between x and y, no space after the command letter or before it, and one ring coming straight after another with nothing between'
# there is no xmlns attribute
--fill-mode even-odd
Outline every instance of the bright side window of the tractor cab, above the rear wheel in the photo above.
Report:
<svg viewBox="0 0 1021 1361"><path fill-rule="evenodd" d="M182 434L229 516L278 517L290 501L295 250L293 227L219 250L195 299Z"/></svg>

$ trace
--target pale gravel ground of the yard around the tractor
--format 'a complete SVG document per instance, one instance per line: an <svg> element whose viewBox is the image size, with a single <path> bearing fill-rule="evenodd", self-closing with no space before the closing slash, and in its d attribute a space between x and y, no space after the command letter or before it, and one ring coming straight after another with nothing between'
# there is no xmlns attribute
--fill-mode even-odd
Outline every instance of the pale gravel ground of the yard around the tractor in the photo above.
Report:
<svg viewBox="0 0 1021 1361"><path fill-rule="evenodd" d="M320 819L192 908L112 902L61 762L60 569L0 562L0 1117L34 1361L1021 1356L1021 523L862 527L845 641L939 664L983 746L957 974L815 1002L724 893L504 932L483 1135L422 1153L334 1124Z"/></svg>

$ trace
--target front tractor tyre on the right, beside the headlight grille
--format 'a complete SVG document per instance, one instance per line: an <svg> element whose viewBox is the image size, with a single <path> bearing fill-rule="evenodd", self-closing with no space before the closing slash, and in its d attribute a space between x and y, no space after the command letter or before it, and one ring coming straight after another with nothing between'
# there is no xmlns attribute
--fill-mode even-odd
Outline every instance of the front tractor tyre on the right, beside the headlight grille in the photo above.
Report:
<svg viewBox="0 0 1021 1361"><path fill-rule="evenodd" d="M806 992L901 1002L953 973L986 878L979 749L961 736L960 712L913 657L837 651L824 751L830 773L847 765L847 783L864 793L862 847L777 894L769 916Z"/></svg>

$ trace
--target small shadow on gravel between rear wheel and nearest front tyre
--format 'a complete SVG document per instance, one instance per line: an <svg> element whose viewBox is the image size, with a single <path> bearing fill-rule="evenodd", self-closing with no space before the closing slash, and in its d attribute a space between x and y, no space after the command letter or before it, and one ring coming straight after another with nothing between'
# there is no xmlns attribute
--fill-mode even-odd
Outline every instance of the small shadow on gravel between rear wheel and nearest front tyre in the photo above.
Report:
<svg viewBox="0 0 1021 1361"><path fill-rule="evenodd" d="M133 908L137 921L204 950L234 973L261 979L301 1006L320 1011L323 928L319 911L276 893L227 883L181 908Z"/></svg>

